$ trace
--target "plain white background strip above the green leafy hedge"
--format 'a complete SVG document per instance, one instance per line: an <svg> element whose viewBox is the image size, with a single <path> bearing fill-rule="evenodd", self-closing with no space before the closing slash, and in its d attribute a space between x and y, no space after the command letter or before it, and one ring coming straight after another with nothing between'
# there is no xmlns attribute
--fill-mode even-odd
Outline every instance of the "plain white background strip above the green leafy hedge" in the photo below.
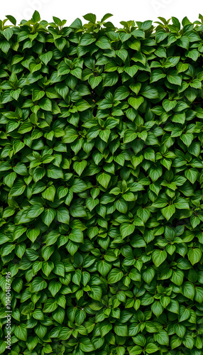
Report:
<svg viewBox="0 0 203 355"><path fill-rule="evenodd" d="M1 0L1 20L12 15L17 23L22 19L31 19L33 11L40 13L41 19L53 21L52 16L67 20L69 26L75 18L82 23L86 13L94 13L100 21L105 13L114 16L107 21L116 27L122 27L120 21L158 21L158 16L167 20L171 16L180 21L187 16L191 22L197 21L199 13L203 15L202 0Z"/></svg>

